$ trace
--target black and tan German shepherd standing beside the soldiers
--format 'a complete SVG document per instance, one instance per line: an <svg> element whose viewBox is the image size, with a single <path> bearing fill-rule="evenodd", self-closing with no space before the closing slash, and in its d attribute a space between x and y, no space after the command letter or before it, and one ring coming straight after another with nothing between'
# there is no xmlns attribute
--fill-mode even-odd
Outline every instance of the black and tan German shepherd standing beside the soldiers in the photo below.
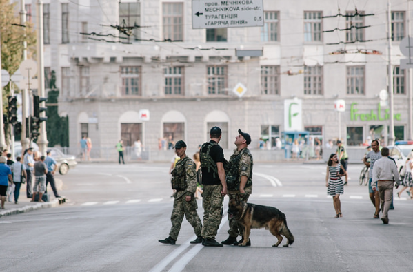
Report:
<svg viewBox="0 0 413 272"><path fill-rule="evenodd" d="M288 247L294 242L294 236L287 227L285 214L274 207L245 203L237 195L228 204L228 216L233 217L244 228L244 240L239 246L245 247L247 245L251 229L261 228L269 229L270 233L278 239L272 247L278 247L281 244L283 241L281 234L288 239L283 247Z"/></svg>

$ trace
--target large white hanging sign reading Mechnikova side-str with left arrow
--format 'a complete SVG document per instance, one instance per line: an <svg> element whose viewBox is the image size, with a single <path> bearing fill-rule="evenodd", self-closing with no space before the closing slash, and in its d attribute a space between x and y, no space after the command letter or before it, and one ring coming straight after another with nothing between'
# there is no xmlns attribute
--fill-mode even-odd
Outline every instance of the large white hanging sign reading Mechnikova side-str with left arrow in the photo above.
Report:
<svg viewBox="0 0 413 272"><path fill-rule="evenodd" d="M192 0L192 28L194 29L263 25L263 0Z"/></svg>

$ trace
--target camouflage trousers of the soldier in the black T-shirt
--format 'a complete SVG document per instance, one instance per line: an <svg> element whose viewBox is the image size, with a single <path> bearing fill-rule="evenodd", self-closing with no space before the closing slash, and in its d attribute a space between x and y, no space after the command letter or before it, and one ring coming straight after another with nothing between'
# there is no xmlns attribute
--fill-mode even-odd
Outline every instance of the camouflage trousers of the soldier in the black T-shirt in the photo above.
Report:
<svg viewBox="0 0 413 272"><path fill-rule="evenodd" d="M223 196L222 185L203 185L203 228L202 237L215 239L222 220Z"/></svg>

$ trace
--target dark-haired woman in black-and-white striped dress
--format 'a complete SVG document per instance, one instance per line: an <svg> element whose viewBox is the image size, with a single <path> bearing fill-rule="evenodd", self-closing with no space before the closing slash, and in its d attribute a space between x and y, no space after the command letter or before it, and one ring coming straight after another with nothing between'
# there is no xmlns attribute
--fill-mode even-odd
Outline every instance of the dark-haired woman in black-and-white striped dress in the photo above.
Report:
<svg viewBox="0 0 413 272"><path fill-rule="evenodd" d="M340 169L343 169L343 174L340 174ZM336 218L343 217L343 213L341 213L340 195L344 193L344 182L341 179L341 176L345 176L346 174L345 169L339 163L339 158L337 158L337 155L334 153L331 154L327 163L325 186L328 187L327 193L333 197Z"/></svg>

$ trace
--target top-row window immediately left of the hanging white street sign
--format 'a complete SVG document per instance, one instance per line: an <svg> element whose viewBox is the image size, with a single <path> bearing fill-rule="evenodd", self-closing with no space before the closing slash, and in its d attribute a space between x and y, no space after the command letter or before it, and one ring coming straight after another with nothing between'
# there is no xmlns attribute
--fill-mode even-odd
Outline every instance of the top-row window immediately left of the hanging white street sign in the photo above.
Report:
<svg viewBox="0 0 413 272"><path fill-rule="evenodd" d="M183 3L163 3L163 38L183 41Z"/></svg>

